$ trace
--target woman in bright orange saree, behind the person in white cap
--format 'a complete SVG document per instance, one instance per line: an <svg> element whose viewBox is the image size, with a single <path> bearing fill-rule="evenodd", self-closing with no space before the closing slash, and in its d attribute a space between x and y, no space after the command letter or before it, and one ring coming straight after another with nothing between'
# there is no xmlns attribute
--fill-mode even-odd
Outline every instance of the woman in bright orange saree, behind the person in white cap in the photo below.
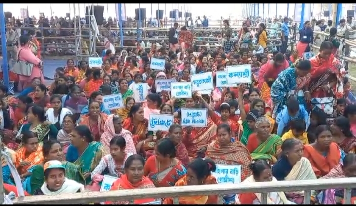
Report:
<svg viewBox="0 0 356 206"><path fill-rule="evenodd" d="M28 171L32 166L35 166L44 161L42 155L42 146L39 145L39 139L33 132L24 132L22 135L23 147L16 151L15 166L20 174L21 179L30 176Z"/></svg>

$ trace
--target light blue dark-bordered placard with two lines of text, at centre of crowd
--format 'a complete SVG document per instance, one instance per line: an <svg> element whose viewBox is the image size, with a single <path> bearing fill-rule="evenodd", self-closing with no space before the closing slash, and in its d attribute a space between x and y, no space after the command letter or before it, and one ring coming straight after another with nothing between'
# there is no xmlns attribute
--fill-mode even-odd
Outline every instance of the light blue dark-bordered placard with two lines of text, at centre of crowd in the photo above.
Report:
<svg viewBox="0 0 356 206"><path fill-rule="evenodd" d="M180 125L205 127L208 121L208 109L181 109Z"/></svg>

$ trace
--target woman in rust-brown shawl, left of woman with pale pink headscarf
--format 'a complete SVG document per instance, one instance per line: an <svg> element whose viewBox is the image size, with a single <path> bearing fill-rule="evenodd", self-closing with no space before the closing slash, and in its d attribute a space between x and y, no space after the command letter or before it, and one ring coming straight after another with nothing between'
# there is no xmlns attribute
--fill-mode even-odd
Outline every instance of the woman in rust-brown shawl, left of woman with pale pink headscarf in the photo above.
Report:
<svg viewBox="0 0 356 206"><path fill-rule="evenodd" d="M79 125L87 126L94 136L94 141L100 142L100 137L104 133L104 125L108 115L100 112L99 102L90 101L88 108L89 114L80 117Z"/></svg>

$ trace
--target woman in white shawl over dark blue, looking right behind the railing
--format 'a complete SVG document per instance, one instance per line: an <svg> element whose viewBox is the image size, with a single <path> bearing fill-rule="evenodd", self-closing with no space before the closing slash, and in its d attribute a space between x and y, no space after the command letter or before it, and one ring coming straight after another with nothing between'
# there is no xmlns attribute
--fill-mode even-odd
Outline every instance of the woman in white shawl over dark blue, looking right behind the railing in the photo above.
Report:
<svg viewBox="0 0 356 206"><path fill-rule="evenodd" d="M282 144L282 155L272 168L278 181L315 180L316 176L309 160L303 157L303 144L297 139L287 139ZM303 204L304 191L286 192L289 200Z"/></svg>

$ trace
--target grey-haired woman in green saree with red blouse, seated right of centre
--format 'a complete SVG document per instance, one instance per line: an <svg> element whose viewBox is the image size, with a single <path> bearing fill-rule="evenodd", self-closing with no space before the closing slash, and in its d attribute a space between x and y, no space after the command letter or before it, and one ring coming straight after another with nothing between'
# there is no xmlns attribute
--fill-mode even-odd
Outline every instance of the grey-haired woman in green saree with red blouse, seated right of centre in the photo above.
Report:
<svg viewBox="0 0 356 206"><path fill-rule="evenodd" d="M270 164L276 163L281 153L282 139L276 134L271 134L270 122L266 117L257 119L255 131L250 135L246 145L252 160L263 159Z"/></svg>

